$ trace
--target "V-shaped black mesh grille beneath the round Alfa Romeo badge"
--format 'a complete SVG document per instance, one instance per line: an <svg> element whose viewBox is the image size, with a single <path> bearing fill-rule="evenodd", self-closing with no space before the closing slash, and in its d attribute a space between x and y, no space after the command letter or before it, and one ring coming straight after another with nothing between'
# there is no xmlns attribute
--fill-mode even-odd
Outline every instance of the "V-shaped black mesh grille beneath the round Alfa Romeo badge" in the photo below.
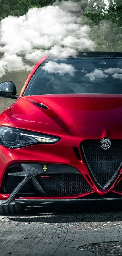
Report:
<svg viewBox="0 0 122 256"><path fill-rule="evenodd" d="M111 143L108 150L101 149L100 140L85 140L81 145L89 171L103 188L110 185L122 163L122 140L112 140Z"/></svg>

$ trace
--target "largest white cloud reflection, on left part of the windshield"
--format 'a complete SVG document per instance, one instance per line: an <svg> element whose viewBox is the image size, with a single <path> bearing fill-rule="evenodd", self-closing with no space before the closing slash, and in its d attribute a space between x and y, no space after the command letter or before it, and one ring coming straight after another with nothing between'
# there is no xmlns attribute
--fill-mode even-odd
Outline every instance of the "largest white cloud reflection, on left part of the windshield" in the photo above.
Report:
<svg viewBox="0 0 122 256"><path fill-rule="evenodd" d="M71 64L65 64L65 63L56 63L53 61L48 61L45 63L45 65L42 67L45 71L48 71L49 73L55 73L55 74L70 74L71 76L74 75L74 67Z"/></svg>

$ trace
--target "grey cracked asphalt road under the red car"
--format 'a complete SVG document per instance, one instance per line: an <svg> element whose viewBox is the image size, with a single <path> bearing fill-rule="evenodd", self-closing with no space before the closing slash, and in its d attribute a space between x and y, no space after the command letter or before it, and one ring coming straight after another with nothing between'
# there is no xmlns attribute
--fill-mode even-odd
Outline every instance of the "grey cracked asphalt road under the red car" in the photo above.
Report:
<svg viewBox="0 0 122 256"><path fill-rule="evenodd" d="M121 204L43 203L0 216L0 255L122 255Z"/></svg>

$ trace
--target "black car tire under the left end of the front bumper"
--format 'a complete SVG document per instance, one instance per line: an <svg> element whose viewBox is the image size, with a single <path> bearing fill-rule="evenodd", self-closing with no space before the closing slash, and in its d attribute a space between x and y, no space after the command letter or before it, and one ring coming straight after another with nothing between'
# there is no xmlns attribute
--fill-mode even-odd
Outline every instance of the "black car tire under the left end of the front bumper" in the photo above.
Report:
<svg viewBox="0 0 122 256"><path fill-rule="evenodd" d="M22 214L25 211L25 205L0 205L0 215Z"/></svg>

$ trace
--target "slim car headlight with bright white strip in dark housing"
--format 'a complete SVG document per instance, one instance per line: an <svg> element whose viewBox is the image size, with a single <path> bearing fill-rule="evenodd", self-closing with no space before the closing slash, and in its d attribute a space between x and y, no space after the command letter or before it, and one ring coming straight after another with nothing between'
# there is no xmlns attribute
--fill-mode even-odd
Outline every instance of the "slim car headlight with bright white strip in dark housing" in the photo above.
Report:
<svg viewBox="0 0 122 256"><path fill-rule="evenodd" d="M54 144L60 138L35 132L0 126L0 144L7 148L20 148L32 144Z"/></svg>

